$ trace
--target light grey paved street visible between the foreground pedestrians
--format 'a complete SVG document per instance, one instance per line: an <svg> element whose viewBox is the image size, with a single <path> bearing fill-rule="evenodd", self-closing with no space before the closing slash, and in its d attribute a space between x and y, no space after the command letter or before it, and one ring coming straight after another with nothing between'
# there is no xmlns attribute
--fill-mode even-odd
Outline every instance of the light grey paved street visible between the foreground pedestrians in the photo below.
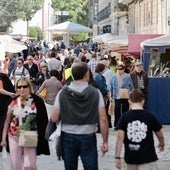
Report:
<svg viewBox="0 0 170 170"><path fill-rule="evenodd" d="M158 153L159 161L155 164L155 170L169 170L170 169L170 125L163 126L163 132L165 134L165 151L163 153ZM109 133L109 152L101 157L100 146L101 146L101 135L97 134L98 139L98 151L99 151L99 170L116 170L114 164L114 147L116 140L116 131L110 129ZM155 145L157 146L158 142L155 139ZM51 147L51 144L50 144ZM64 170L63 161L58 161L57 157L52 150L50 156L38 156L38 170ZM149 152L149 151L148 151ZM147 154L147 153L146 153ZM122 151L123 155L123 151ZM81 161L79 161L79 170L83 170Z"/></svg>

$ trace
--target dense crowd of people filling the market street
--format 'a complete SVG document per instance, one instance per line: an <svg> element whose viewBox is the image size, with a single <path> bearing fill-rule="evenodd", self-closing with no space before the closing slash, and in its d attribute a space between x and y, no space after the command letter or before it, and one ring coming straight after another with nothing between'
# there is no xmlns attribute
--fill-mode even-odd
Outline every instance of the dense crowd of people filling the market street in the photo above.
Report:
<svg viewBox="0 0 170 170"><path fill-rule="evenodd" d="M80 44L67 49L63 42L51 49L46 42L42 48L30 47L24 53L7 53L3 73L0 73L0 144L1 149L9 145L11 170L22 170L22 167L36 170L36 155L50 154L45 139L49 121L62 122L66 170L78 169L79 156L85 170L98 170L96 132L102 135L104 155L109 147L109 128L118 130L117 168L121 169L123 142L128 170L157 160L151 132L158 137L160 151L163 151L164 137L162 126L146 111L148 77L141 61L136 61L133 70L127 69L125 61L118 61L109 52L103 53L96 43L91 49ZM38 95L44 88L47 91L43 100ZM111 102L114 115L108 111ZM31 119L29 130L38 132L38 143L33 148L22 147L18 142L19 129L28 119ZM135 133L136 125L145 126L140 141L133 140L133 134L129 135L129 130ZM152 159L143 158L148 148L152 148ZM136 159L133 161L129 157Z"/></svg>

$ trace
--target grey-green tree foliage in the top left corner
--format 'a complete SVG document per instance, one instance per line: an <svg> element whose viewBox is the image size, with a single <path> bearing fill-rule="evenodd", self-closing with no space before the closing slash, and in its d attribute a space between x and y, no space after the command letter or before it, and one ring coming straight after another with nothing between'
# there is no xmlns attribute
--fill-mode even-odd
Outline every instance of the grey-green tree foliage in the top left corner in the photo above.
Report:
<svg viewBox="0 0 170 170"><path fill-rule="evenodd" d="M0 32L5 32L19 18L29 21L42 7L43 0L0 0Z"/></svg>

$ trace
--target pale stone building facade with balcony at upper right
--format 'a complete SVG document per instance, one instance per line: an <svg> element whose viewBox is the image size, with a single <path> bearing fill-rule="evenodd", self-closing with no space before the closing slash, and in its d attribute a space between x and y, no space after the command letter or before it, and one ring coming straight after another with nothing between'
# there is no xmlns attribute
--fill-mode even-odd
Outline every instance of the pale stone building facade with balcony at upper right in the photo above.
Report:
<svg viewBox="0 0 170 170"><path fill-rule="evenodd" d="M169 0L90 0L89 4L94 36L170 32Z"/></svg>

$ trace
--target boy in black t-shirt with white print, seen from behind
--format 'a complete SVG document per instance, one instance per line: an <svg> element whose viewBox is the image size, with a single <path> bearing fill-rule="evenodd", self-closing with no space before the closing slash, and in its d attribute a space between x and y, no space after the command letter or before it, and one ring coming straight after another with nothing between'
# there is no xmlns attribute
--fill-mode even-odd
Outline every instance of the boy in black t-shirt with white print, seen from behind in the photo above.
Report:
<svg viewBox="0 0 170 170"><path fill-rule="evenodd" d="M154 147L153 132L158 138L160 151L164 151L162 126L154 115L143 109L144 95L140 90L133 90L129 96L130 111L124 113L118 123L118 134L115 147L115 161L118 169L122 168L120 159L124 143L126 170L152 169L153 162L158 160Z"/></svg>

